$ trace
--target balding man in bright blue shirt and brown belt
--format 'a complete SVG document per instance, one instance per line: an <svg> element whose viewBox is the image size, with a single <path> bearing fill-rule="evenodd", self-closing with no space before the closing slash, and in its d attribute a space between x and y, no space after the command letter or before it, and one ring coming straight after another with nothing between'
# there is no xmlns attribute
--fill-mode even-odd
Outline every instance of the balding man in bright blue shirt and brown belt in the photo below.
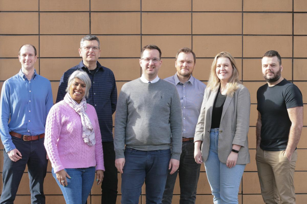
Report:
<svg viewBox="0 0 307 204"><path fill-rule="evenodd" d="M0 136L5 148L0 203L14 202L26 165L31 203L45 203L48 157L44 136L46 117L53 105L51 84L34 69L37 55L33 45L21 46L18 58L21 70L3 83L0 98Z"/></svg>

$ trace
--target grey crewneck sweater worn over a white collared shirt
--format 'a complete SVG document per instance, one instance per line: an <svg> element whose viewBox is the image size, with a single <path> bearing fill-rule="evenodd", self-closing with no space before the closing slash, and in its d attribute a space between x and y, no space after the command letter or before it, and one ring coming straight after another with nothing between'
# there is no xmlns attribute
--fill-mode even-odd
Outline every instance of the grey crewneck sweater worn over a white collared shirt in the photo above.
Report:
<svg viewBox="0 0 307 204"><path fill-rule="evenodd" d="M116 159L125 158L127 148L142 151L169 149L172 159L180 159L182 114L176 87L159 79L144 83L140 78L125 83L115 114L114 149Z"/></svg>

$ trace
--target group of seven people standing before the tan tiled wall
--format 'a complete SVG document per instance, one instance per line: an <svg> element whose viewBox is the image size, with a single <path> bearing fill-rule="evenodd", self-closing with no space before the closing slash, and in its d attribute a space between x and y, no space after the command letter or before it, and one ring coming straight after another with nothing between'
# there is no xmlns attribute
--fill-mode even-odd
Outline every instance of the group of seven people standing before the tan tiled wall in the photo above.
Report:
<svg viewBox="0 0 307 204"><path fill-rule="evenodd" d="M119 171L122 203L138 203L144 182L146 203L172 203L179 175L179 203L192 204L202 163L213 203L238 203L239 184L250 163L251 100L230 53L215 56L206 87L192 76L196 56L190 48L177 52L176 73L163 80L158 77L161 50L146 45L139 59L142 76L125 83L118 99L113 72L97 61L99 39L83 37L79 54L81 62L60 79L53 105L49 80L34 69L35 47L21 46L21 70L1 91L5 150L0 204L14 202L26 165L31 203L45 203L48 159L66 203L86 203L96 172L97 185L102 183L101 203L115 204ZM302 94L281 76L277 51L266 52L261 62L267 81L257 91L261 193L265 203L293 204Z"/></svg>

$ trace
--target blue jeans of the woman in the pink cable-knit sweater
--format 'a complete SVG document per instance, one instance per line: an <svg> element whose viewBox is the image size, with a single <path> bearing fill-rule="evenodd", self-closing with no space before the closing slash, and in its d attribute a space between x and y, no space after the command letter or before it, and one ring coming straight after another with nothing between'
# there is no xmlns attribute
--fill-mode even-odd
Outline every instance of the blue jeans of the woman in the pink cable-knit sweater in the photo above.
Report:
<svg viewBox="0 0 307 204"><path fill-rule="evenodd" d="M95 167L67 168L65 171L71 177L71 179L66 177L68 184L66 187L60 185L60 182L56 179L56 173L54 173L53 168L51 172L63 193L66 203L84 204L94 183Z"/></svg>

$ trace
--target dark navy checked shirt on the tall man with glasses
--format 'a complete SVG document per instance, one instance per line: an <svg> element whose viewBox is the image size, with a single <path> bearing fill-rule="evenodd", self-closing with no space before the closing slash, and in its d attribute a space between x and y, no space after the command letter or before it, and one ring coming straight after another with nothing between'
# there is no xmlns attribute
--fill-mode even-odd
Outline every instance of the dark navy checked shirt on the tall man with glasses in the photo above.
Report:
<svg viewBox="0 0 307 204"><path fill-rule="evenodd" d="M99 121L101 139L103 142L108 142L113 141L112 114L116 109L117 89L113 71L107 67L101 66L98 61L97 67L98 70L92 75L87 67L84 66L83 60L81 60L77 66L67 70L61 77L56 103L64 99L67 81L72 72L79 69L86 71L92 83L86 102L95 107Z"/></svg>

